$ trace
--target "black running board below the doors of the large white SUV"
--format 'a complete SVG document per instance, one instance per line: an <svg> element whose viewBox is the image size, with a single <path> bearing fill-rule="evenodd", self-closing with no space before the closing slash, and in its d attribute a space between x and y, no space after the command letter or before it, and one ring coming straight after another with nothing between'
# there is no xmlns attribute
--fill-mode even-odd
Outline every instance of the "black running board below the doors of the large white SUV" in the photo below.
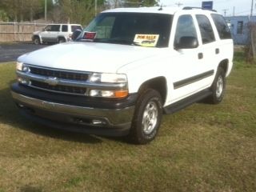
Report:
<svg viewBox="0 0 256 192"><path fill-rule="evenodd" d="M165 114L173 114L174 112L177 112L178 110L184 109L186 106L190 106L194 102L199 102L203 98L207 98L212 94L212 91L209 89L202 90L198 92L197 94L193 94L188 98L183 98L181 101L174 102L173 104L170 104L170 106L164 107L164 113Z"/></svg>

